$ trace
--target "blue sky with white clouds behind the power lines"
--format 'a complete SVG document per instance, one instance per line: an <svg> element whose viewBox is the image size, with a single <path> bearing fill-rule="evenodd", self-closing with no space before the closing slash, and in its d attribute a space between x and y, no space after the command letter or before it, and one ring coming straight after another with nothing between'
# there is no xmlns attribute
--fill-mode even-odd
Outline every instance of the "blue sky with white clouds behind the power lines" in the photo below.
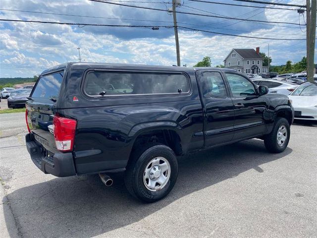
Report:
<svg viewBox="0 0 317 238"><path fill-rule="evenodd" d="M129 0L127 0L129 1ZM167 9L169 0L140 0L151 3L129 3ZM234 0L220 2L248 5ZM283 3L305 4L305 0L272 0ZM121 2L122 3L122 2ZM251 4L252 5L252 4ZM255 5L255 4L253 4ZM256 4L263 6L263 4ZM89 0L1 0L1 9L41 11L50 13L97 16L117 19L61 16L1 10L3 19L23 19L118 25L172 25L167 12L117 6ZM208 4L182 0L178 11L249 18L264 21L285 21L304 24L296 11ZM243 36L271 38L306 38L305 28L295 25L262 24L232 19L220 19L178 14L179 26ZM289 26L289 27L281 27ZM67 26L0 22L0 77L27 77L40 74L45 68L66 61L78 61L77 48L86 62L125 62L172 65L176 64L173 28L117 28L96 26ZM277 41L224 36L197 31L179 30L181 64L192 66L204 56L212 65L222 63L232 48L256 48L267 54L270 45L272 64L287 60L297 62L306 55L305 41ZM315 58L317 59L317 58Z"/></svg>

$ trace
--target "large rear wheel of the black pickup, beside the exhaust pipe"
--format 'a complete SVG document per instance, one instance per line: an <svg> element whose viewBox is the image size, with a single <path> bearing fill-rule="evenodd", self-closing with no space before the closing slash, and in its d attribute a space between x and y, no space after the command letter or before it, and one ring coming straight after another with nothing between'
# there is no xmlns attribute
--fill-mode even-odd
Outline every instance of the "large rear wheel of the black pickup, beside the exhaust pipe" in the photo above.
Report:
<svg viewBox="0 0 317 238"><path fill-rule="evenodd" d="M124 180L134 197L144 202L156 202L172 190L177 174L174 151L163 144L152 144L132 153Z"/></svg>

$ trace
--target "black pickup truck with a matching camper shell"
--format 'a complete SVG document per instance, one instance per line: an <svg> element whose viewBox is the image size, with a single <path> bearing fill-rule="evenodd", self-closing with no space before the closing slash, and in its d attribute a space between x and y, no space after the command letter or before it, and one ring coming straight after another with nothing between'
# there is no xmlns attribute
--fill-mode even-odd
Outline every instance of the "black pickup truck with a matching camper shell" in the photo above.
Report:
<svg viewBox="0 0 317 238"><path fill-rule="evenodd" d="M136 198L154 202L175 184L177 156L260 138L285 150L294 110L226 68L67 63L45 70L26 103L26 145L57 177L123 172ZM256 155L255 155L256 159Z"/></svg>

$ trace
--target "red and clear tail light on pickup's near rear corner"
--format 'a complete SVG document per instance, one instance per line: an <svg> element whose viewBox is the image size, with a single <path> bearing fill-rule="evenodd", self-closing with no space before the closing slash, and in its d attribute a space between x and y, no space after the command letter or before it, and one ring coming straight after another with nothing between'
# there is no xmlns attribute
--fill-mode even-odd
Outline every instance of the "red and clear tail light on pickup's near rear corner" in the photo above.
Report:
<svg viewBox="0 0 317 238"><path fill-rule="evenodd" d="M74 147L77 121L54 116L54 138L59 151L72 151Z"/></svg>

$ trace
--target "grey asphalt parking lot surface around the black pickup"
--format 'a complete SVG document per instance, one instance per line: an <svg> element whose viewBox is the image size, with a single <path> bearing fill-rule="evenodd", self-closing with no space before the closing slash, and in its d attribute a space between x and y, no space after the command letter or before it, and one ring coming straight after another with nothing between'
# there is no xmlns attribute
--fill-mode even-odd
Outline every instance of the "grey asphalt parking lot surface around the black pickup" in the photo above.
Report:
<svg viewBox="0 0 317 238"><path fill-rule="evenodd" d="M317 237L317 127L292 125L281 154L253 139L182 157L171 193L144 204L120 174L43 174L24 114L0 121L1 237Z"/></svg>

